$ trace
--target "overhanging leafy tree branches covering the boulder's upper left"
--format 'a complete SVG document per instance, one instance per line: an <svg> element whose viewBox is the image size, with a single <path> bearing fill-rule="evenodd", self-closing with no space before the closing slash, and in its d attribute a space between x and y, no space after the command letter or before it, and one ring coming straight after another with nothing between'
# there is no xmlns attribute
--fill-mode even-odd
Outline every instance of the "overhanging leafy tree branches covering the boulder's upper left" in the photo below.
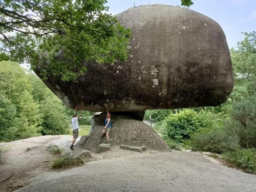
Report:
<svg viewBox="0 0 256 192"><path fill-rule="evenodd" d="M113 63L127 57L130 30L105 13L105 0L0 1L2 52L27 61L41 76L83 75L83 60ZM62 59L56 54L61 52Z"/></svg>

